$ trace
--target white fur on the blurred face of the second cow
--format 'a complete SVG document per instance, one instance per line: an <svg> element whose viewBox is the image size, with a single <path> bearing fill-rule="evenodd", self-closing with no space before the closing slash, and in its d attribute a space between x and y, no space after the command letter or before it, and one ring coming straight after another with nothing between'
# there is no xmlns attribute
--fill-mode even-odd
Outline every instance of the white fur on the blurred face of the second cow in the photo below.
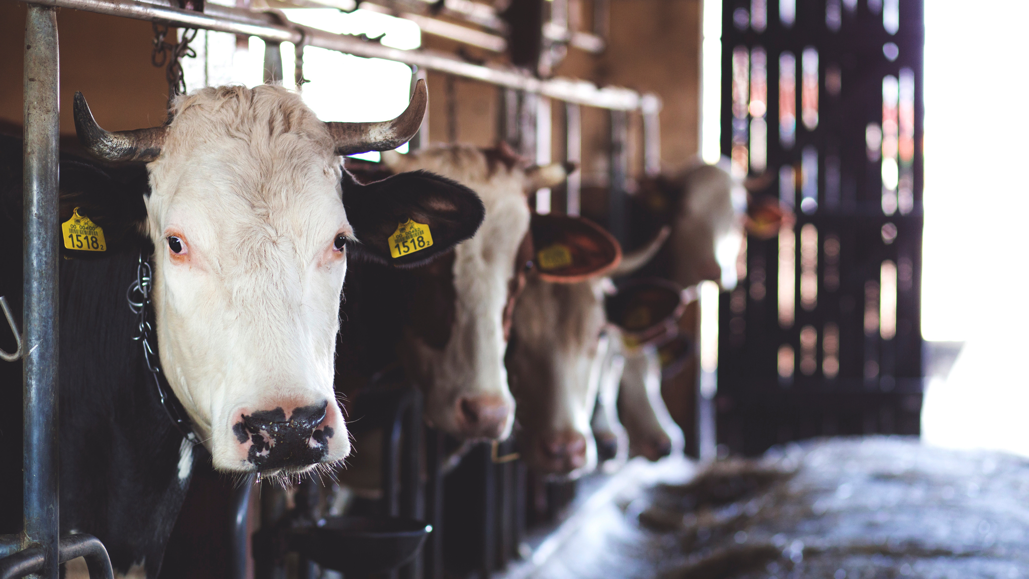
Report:
<svg viewBox="0 0 1029 579"><path fill-rule="evenodd" d="M477 193L486 206L478 232L455 248L457 304L450 341L438 351L409 334L403 349L409 370L431 384L426 416L434 425L457 431L458 399L490 397L510 409L500 435L507 438L514 401L504 368L502 314L514 257L529 230L525 171L502 163L491 167L480 149L464 145L384 155L383 160L394 171L424 169L459 181Z"/></svg>

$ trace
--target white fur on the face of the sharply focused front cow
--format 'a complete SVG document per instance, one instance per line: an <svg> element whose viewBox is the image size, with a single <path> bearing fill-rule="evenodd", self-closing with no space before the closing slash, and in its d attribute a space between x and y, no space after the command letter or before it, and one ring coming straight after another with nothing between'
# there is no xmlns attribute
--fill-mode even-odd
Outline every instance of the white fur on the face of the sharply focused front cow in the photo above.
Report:
<svg viewBox="0 0 1029 579"><path fill-rule="evenodd" d="M252 470L232 432L241 412L329 401L325 462L350 448L332 375L352 233L324 125L278 87L202 89L180 97L148 165L147 233L161 362L214 466ZM182 236L177 263L166 237Z"/></svg>

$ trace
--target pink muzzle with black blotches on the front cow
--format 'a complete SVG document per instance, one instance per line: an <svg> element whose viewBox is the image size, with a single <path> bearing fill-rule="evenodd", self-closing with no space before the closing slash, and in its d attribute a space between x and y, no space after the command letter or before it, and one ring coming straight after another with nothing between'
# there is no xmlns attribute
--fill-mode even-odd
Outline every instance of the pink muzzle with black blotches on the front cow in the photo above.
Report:
<svg viewBox="0 0 1029 579"><path fill-rule="evenodd" d="M339 408L324 400L317 404L271 410L241 410L233 424L245 463L258 472L303 471L319 463L346 456L350 444ZM342 440L341 440L342 439ZM332 444L335 442L336 444ZM343 443L345 448L340 448ZM336 448L333 451L332 446ZM333 457L334 454L342 454ZM249 466L248 465L248 466Z"/></svg>

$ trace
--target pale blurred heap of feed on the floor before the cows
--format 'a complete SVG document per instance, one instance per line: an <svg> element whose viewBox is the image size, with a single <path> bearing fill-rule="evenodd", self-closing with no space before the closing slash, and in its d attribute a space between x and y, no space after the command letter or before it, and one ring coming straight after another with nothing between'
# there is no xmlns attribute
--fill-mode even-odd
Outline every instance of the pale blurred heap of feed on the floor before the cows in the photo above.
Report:
<svg viewBox="0 0 1029 579"><path fill-rule="evenodd" d="M528 576L1029 577L1025 458L875 437L679 465L624 484Z"/></svg>

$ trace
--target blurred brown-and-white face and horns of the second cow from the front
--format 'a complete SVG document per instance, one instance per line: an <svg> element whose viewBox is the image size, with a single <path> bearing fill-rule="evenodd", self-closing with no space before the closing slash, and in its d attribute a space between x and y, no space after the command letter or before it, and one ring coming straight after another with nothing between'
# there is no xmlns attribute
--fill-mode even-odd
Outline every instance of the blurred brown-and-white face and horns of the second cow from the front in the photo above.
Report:
<svg viewBox="0 0 1029 579"><path fill-rule="evenodd" d="M527 167L505 144L438 146L384 155L383 162L394 171L450 177L483 199L478 232L452 256L416 272L421 301L412 308L400 349L409 374L426 388L430 423L459 438L506 438L514 414L503 364L507 329L532 259L526 195L560 183L568 168Z"/></svg>

